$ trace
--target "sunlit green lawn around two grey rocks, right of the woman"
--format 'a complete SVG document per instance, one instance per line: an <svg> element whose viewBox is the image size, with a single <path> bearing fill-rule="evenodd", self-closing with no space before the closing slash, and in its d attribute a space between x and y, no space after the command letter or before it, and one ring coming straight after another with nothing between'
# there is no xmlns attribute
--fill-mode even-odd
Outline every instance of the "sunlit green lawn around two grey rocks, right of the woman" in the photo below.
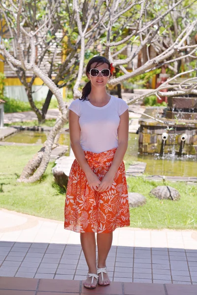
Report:
<svg viewBox="0 0 197 295"><path fill-rule="evenodd" d="M185 182L165 182L176 188L181 198L179 201L158 200L149 196L151 189L163 182L150 181L143 177L127 178L130 192L146 197L142 207L131 208L131 226L150 229L197 229L197 185Z"/></svg>

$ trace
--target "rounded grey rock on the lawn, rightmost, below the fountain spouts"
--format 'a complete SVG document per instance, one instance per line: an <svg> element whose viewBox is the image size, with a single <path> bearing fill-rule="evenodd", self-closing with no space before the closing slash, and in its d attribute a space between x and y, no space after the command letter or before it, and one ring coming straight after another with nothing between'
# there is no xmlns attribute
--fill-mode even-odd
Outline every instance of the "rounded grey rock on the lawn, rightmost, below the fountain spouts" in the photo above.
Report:
<svg viewBox="0 0 197 295"><path fill-rule="evenodd" d="M153 195L160 200L172 201L177 201L181 197L175 188L168 185L157 186L150 191L149 195Z"/></svg>

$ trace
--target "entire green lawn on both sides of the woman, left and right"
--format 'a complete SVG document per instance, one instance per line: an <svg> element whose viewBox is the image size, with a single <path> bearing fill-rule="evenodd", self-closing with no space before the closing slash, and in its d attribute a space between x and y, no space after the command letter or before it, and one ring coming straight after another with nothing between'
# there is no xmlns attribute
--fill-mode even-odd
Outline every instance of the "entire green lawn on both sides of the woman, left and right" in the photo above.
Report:
<svg viewBox="0 0 197 295"><path fill-rule="evenodd" d="M26 163L39 147L0 147L0 207L30 215L64 220L65 190L54 181L49 163L43 177L35 183L18 183ZM125 165L127 167L127 164ZM162 182L127 178L130 192L143 194L147 203L131 208L131 227L152 229L197 229L197 185L168 182L178 189L181 199L176 202L149 196L152 188Z"/></svg>

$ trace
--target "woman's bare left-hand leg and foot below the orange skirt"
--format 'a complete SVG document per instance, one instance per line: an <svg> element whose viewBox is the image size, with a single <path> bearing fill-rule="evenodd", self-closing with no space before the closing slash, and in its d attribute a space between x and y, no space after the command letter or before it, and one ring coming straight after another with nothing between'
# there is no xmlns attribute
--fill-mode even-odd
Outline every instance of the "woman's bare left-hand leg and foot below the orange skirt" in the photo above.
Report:
<svg viewBox="0 0 197 295"><path fill-rule="evenodd" d="M88 265L88 272L97 274L96 266L96 238L95 233L81 233L81 246ZM87 278L84 285L87 287L95 287L97 280L94 278L93 284L91 284L92 278Z"/></svg>

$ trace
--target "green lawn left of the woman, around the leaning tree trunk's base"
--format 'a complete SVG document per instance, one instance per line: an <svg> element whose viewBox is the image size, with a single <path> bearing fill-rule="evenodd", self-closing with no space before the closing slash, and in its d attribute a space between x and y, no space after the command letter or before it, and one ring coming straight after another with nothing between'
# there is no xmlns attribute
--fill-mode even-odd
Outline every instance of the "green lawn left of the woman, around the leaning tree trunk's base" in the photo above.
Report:
<svg viewBox="0 0 197 295"><path fill-rule="evenodd" d="M0 147L0 207L44 218L63 220L65 191L53 179L51 171L53 162L49 163L39 181L34 183L16 181L38 149L39 146Z"/></svg>

